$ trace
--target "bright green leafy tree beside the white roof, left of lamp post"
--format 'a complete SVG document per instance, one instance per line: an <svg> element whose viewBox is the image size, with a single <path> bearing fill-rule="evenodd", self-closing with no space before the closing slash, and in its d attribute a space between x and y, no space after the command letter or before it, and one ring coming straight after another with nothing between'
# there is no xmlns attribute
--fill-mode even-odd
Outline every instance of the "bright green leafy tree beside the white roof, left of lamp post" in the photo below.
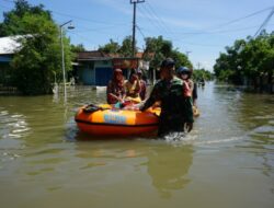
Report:
<svg viewBox="0 0 274 208"><path fill-rule="evenodd" d="M22 21L27 22L32 35L19 39L22 48L12 60L14 85L23 94L52 93L54 72L60 69L58 27L37 14L25 14Z"/></svg>

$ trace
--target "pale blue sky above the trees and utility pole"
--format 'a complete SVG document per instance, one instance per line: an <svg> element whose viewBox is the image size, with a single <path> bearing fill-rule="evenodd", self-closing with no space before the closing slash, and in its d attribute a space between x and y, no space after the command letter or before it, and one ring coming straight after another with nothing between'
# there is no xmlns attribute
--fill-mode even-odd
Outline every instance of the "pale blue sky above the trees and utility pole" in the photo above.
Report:
<svg viewBox="0 0 274 208"><path fill-rule="evenodd" d="M72 20L75 30L67 30L67 36L88 50L98 49L111 38L121 44L133 34L130 0L28 0L28 3L44 4L57 24ZM2 13L13 5L12 0L0 0L0 21ZM194 68L213 71L219 53L236 39L254 36L273 8L274 0L145 0L137 4L137 47L144 49L144 37L161 35L189 55ZM274 15L264 28L269 33L274 31Z"/></svg>

